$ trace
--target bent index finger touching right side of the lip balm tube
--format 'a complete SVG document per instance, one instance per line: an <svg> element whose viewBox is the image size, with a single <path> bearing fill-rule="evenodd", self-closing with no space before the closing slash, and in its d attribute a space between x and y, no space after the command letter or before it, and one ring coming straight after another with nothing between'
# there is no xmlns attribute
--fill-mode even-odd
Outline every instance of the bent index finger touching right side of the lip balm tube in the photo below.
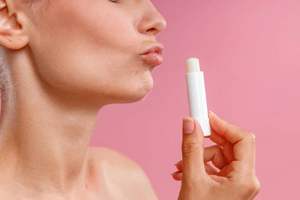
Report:
<svg viewBox="0 0 300 200"><path fill-rule="evenodd" d="M213 112L209 113L211 127L233 144L234 160L243 161L246 166L255 168L255 136L221 119ZM244 166L243 166L244 167Z"/></svg>

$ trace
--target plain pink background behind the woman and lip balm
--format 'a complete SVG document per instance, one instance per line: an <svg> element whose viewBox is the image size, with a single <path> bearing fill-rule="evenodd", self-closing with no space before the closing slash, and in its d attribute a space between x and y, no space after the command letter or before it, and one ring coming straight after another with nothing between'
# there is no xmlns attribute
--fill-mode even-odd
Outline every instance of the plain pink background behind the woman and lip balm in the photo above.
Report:
<svg viewBox="0 0 300 200"><path fill-rule="evenodd" d="M256 135L256 199L298 198L300 1L152 2L167 21L154 88L143 101L104 107L91 145L125 153L144 168L159 199L177 199L180 182L169 173L181 158L188 115L184 61L197 57L208 109Z"/></svg>

